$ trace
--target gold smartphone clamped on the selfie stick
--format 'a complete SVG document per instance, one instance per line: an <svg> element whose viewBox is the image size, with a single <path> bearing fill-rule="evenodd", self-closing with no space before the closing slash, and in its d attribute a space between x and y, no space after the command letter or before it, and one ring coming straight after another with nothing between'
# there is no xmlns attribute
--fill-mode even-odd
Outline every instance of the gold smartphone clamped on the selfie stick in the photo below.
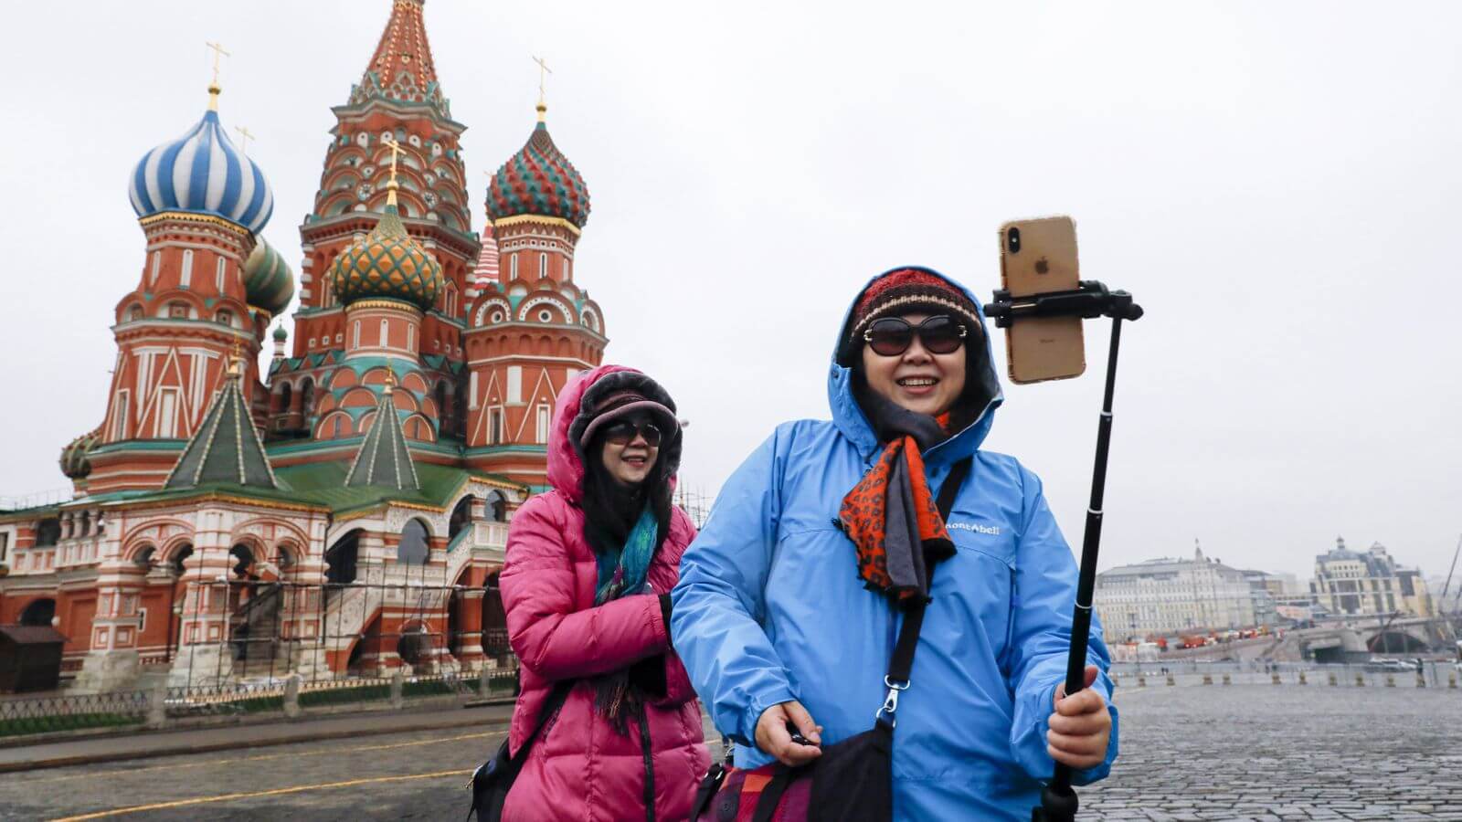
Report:
<svg viewBox="0 0 1462 822"><path fill-rule="evenodd" d="M1000 227L1000 284L1020 297L1079 285L1076 222L1069 216L1013 219ZM1086 370L1080 317L1026 317L1006 328L1010 382L1064 380Z"/></svg>

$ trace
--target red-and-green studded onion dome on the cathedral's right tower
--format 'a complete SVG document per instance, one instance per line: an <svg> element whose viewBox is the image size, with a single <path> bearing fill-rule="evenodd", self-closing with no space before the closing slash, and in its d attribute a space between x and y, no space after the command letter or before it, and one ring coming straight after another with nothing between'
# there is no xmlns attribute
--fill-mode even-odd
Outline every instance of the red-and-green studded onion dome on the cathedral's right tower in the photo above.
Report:
<svg viewBox="0 0 1462 822"><path fill-rule="evenodd" d="M569 158L553 145L548 126L541 120L528 143L487 184L490 218L525 214L557 216L579 228L589 221L589 189Z"/></svg>

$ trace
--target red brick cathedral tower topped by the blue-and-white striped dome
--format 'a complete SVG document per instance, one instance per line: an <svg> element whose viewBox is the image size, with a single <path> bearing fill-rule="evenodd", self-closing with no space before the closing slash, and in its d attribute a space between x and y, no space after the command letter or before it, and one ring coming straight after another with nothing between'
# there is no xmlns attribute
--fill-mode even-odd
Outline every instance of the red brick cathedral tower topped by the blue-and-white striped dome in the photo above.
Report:
<svg viewBox="0 0 1462 822"><path fill-rule="evenodd" d="M218 85L203 118L148 152L132 176L132 205L148 240L136 288L117 303L117 363L98 443L88 452L91 493L162 486L193 436L231 351L249 364L246 392L272 312L292 287L253 284L246 263L263 241L273 195L228 139ZM266 272L268 274L268 272ZM288 281L285 269L282 276Z"/></svg>

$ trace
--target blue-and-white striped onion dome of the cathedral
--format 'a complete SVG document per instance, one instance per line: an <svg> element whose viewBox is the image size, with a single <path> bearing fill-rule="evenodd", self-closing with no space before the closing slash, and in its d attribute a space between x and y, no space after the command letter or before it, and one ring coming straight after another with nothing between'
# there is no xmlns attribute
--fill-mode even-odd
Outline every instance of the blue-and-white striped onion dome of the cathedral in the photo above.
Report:
<svg viewBox="0 0 1462 822"><path fill-rule="evenodd" d="M130 193L137 216L212 214L254 234L273 214L273 192L263 173L230 142L212 110L181 137L143 155L132 173Z"/></svg>

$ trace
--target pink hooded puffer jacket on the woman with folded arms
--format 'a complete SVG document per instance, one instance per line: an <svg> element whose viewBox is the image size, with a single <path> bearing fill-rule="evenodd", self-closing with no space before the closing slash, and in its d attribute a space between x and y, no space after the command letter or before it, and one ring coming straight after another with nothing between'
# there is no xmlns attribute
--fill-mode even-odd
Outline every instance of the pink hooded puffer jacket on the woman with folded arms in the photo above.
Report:
<svg viewBox="0 0 1462 822"><path fill-rule="evenodd" d="M670 626L658 597L626 595L594 606L598 565L583 538L583 510L577 505L583 465L567 431L585 389L620 370L629 369L602 366L560 393L548 437L548 483L554 490L528 500L509 529L500 585L509 641L522 663L522 695L509 740L513 752L523 744L556 680L664 658L665 696L646 705L654 816L645 807L646 752L639 725L632 721L629 736L620 736L595 712L594 686L583 682L535 740L503 809L503 819L510 822L681 821L690 815L696 784L711 763L700 705L670 648ZM690 518L674 509L670 535L649 566L648 581L656 594L675 585L680 556L694 535Z"/></svg>

